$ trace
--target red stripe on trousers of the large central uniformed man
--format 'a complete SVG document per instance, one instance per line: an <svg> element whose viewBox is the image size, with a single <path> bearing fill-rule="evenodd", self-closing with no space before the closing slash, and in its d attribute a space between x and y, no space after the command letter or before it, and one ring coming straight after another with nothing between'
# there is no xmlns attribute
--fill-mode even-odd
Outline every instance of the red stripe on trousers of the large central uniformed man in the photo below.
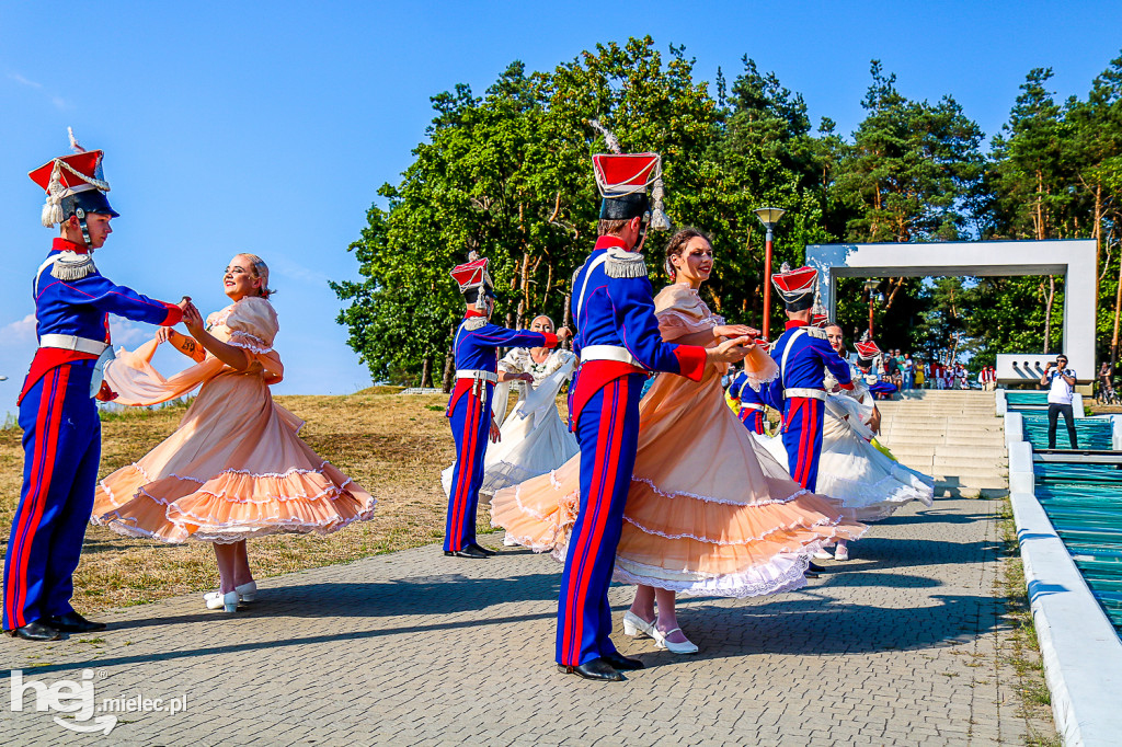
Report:
<svg viewBox="0 0 1122 747"><path fill-rule="evenodd" d="M616 427L616 415L619 412L619 402L627 400L627 379L616 379L604 388L600 404L600 432L597 435L597 446L600 459L596 462L596 471L592 473L590 485L592 492L588 496L585 506L592 510L592 531L585 532L583 537L574 537L580 542L577 546L577 562L573 562L573 571L577 580L572 584L569 594L569 629L565 630L563 647L568 654L567 661L576 664L580 660L580 642L585 639L585 602L588 599L588 580L596 564L596 548L600 546L600 537L604 535L604 526L607 517L611 513L611 494L616 483L616 454L619 453L623 428ZM603 500L607 491L608 500ZM589 550L591 548L591 552ZM591 557L590 557L591 555Z"/></svg>

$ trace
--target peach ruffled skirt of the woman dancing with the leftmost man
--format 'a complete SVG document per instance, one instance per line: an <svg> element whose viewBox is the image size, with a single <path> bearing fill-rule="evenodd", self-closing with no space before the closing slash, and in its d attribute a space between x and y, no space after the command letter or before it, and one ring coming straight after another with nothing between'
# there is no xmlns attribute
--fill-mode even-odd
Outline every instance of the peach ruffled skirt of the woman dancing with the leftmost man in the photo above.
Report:
<svg viewBox="0 0 1122 747"><path fill-rule="evenodd" d="M374 497L301 441L302 425L260 372L224 369L175 433L99 483L92 522L165 542L230 543L370 518Z"/></svg>

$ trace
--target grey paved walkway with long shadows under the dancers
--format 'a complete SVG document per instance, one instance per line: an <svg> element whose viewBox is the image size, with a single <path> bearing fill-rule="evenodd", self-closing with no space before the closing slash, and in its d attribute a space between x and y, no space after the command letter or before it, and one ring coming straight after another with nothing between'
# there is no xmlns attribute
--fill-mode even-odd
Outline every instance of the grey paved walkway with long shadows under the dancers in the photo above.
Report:
<svg viewBox="0 0 1122 747"><path fill-rule="evenodd" d="M555 671L559 566L524 551L467 561L427 546L268 579L237 616L197 596L127 608L102 615L110 629L96 636L0 642L0 734L8 745L1022 745L992 596L996 509L951 498L905 509L808 589L684 600L697 656L624 638L632 592L616 587L615 639L649 667L625 683ZM25 685L92 667L98 702L185 694L186 709L77 735L36 712L31 690L11 712L9 667L24 667Z"/></svg>

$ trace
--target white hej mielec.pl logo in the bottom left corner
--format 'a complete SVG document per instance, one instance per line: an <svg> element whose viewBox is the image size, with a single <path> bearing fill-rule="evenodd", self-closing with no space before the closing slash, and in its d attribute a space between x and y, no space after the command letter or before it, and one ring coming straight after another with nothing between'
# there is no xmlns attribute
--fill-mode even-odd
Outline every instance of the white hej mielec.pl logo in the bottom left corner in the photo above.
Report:
<svg viewBox="0 0 1122 747"><path fill-rule="evenodd" d="M58 726L71 731L94 732L108 735L117 726L114 713L145 713L165 711L178 713L186 710L187 697L145 698L136 694L131 698L102 698L98 701L93 691L93 670L82 670L82 679L58 680L52 684L38 680L24 680L22 670L11 671L11 710L13 713L30 708L34 702L36 711L53 711L65 713L68 718L58 716L53 720Z"/></svg>

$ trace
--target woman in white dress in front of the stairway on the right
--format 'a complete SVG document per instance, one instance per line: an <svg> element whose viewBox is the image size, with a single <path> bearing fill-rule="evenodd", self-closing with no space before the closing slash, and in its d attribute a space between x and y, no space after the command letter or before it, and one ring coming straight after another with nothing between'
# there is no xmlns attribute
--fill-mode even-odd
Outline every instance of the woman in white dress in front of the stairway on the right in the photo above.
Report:
<svg viewBox="0 0 1122 747"><path fill-rule="evenodd" d="M842 328L828 324L830 345L845 358ZM861 343L864 344L864 343ZM858 348L861 347L858 344ZM817 490L835 498L858 522L876 522L891 516L904 504L919 500L931 506L935 480L904 467L873 443L880 430L880 412L865 378L853 366L854 388L840 389L829 374L824 386L833 394L826 400L822 451L818 458ZM787 452L779 437L755 436L783 464ZM838 540L834 559L849 559L845 540Z"/></svg>

